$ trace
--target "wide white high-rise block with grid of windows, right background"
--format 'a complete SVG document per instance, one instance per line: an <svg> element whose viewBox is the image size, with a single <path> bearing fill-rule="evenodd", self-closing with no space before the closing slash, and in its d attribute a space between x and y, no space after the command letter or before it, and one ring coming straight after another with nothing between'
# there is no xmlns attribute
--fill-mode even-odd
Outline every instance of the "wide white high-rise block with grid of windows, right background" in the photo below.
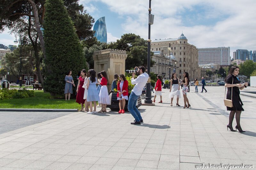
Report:
<svg viewBox="0 0 256 170"><path fill-rule="evenodd" d="M230 65L230 47L197 48L198 64Z"/></svg>

